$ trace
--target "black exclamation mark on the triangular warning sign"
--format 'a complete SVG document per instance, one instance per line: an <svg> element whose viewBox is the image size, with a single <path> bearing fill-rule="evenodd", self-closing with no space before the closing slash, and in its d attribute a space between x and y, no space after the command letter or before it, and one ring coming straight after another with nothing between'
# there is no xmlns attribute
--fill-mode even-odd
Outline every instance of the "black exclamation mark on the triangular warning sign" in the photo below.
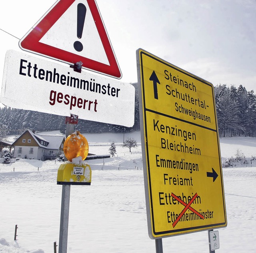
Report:
<svg viewBox="0 0 256 253"><path fill-rule="evenodd" d="M84 4L78 4L77 5L77 38L82 38L83 29L84 29L84 20L85 20L85 14L86 14L86 7ZM81 52L83 50L83 44L80 41L74 42L74 49L78 52Z"/></svg>

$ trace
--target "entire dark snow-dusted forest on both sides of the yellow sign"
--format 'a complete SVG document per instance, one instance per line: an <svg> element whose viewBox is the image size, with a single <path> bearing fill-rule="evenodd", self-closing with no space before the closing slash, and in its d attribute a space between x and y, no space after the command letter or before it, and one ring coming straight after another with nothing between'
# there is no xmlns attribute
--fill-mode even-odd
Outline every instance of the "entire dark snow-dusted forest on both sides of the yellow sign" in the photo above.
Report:
<svg viewBox="0 0 256 253"><path fill-rule="evenodd" d="M129 132L140 130L138 84L135 87L134 126L124 127L88 120L78 120L76 130L83 133ZM214 87L220 137L254 136L256 127L256 95L242 85ZM79 116L78 116L79 117ZM9 134L21 134L26 129L35 131L60 130L65 133L65 117L41 112L0 108L0 139Z"/></svg>

